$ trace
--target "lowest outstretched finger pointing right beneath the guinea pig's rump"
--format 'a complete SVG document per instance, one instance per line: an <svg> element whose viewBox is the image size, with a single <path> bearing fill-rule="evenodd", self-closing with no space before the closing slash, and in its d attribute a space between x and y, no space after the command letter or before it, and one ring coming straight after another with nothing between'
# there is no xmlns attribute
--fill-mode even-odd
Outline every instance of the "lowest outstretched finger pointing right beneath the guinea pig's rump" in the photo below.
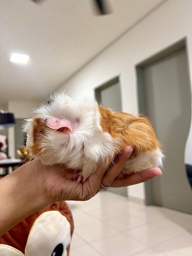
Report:
<svg viewBox="0 0 192 256"><path fill-rule="evenodd" d="M161 174L162 174L162 171L160 168L152 167L152 168L143 170L142 172L128 174L123 178L119 178L119 179L117 178L112 182L110 187L118 188L118 187L126 187L130 185L138 184L138 183L150 180L151 178L160 176Z"/></svg>

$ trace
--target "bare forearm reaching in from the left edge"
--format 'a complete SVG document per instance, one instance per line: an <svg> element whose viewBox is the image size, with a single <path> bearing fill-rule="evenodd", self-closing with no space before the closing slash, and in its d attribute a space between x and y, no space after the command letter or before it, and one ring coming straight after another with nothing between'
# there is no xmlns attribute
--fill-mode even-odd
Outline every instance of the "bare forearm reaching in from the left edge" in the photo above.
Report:
<svg viewBox="0 0 192 256"><path fill-rule="evenodd" d="M25 164L0 179L0 236L45 206L31 171Z"/></svg>

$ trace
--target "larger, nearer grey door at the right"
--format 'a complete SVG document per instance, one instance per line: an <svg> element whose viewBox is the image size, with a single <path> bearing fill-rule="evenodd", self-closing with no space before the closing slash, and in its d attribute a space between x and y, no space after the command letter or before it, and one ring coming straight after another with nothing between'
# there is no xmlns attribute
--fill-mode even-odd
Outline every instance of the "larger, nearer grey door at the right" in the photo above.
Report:
<svg viewBox="0 0 192 256"><path fill-rule="evenodd" d="M162 176L151 181L150 195L149 191L146 194L153 204L192 213L192 190L184 163L191 120L185 49L144 66L143 78L146 114L166 155Z"/></svg>

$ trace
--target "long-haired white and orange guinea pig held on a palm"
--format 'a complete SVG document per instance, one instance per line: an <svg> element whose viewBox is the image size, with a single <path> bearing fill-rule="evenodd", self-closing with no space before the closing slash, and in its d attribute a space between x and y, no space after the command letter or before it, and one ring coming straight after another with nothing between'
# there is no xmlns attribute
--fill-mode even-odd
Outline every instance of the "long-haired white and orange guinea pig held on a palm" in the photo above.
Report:
<svg viewBox="0 0 192 256"><path fill-rule="evenodd" d="M122 173L161 166L163 154L148 118L102 108L96 100L54 94L26 120L26 146L45 165L61 164L86 180L98 166L108 169L126 148L133 148Z"/></svg>

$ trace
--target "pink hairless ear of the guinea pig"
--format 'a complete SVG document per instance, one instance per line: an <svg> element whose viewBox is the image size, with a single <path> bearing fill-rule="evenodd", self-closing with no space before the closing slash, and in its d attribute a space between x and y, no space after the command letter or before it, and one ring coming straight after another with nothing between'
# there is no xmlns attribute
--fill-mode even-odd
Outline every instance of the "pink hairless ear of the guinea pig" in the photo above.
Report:
<svg viewBox="0 0 192 256"><path fill-rule="evenodd" d="M46 125L53 130L70 134L72 132L71 124L68 120L50 117L44 120Z"/></svg>

